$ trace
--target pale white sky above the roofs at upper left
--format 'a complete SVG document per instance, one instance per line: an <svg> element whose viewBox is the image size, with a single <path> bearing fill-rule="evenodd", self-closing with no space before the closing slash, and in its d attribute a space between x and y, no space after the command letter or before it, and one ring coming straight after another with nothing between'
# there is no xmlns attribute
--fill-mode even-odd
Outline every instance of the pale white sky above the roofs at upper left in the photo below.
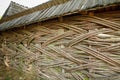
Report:
<svg viewBox="0 0 120 80"><path fill-rule="evenodd" d="M0 16L4 14L5 10L8 8L11 1L31 8L39 4L42 4L48 0L0 0Z"/></svg>

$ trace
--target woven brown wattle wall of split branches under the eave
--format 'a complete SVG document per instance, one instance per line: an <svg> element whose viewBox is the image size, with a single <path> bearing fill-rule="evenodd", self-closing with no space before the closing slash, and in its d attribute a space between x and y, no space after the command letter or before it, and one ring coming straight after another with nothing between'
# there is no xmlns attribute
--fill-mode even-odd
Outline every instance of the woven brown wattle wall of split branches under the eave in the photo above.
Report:
<svg viewBox="0 0 120 80"><path fill-rule="evenodd" d="M52 20L2 32L4 64L40 80L119 80L119 13L73 15L62 23Z"/></svg>

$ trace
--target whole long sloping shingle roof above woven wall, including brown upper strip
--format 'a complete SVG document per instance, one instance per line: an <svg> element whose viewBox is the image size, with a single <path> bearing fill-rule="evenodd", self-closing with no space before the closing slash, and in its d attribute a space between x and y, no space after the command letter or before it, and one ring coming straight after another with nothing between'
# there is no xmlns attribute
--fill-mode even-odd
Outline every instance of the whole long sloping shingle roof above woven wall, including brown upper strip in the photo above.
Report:
<svg viewBox="0 0 120 80"><path fill-rule="evenodd" d="M0 31L11 29L14 27L29 25L32 23L65 16L66 14L79 13L87 9L105 7L110 4L120 3L120 0L57 0L49 1L39 5L26 12L13 15L12 18L7 17L0 21ZM18 17L19 16L19 17Z"/></svg>

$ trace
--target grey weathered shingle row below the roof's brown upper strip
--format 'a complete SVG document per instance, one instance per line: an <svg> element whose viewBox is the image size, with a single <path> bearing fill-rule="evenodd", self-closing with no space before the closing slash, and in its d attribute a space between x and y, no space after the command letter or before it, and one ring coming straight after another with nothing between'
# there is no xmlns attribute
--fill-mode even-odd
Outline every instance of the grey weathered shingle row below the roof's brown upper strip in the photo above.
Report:
<svg viewBox="0 0 120 80"><path fill-rule="evenodd" d="M67 2L54 5L52 7L49 7L43 10L34 11L24 16L18 17L20 18L19 22L16 21L18 18L15 18L15 19L4 22L4 26L1 23L0 31L6 30L10 27L14 28L19 26L24 26L31 23L35 23L35 22L48 20L53 17L63 16L66 13L71 13L74 11L81 11L81 10L91 9L97 6L106 6L114 3L120 3L120 0L101 0L101 1L100 0L68 0ZM47 5L45 5L45 7L46 6Z"/></svg>

